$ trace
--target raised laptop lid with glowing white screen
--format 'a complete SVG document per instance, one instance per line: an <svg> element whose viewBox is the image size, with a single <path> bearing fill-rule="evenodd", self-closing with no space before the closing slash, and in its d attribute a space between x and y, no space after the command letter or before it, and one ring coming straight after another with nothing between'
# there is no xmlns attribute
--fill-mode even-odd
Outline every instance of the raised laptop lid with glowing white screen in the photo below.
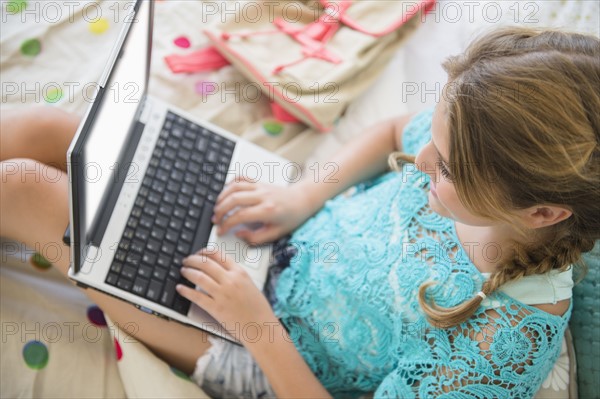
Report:
<svg viewBox="0 0 600 399"><path fill-rule="evenodd" d="M88 248L99 246L120 188L132 178L131 159L143 128L138 119L149 79L153 3L137 0L129 9L94 102L67 154L75 272Z"/></svg>

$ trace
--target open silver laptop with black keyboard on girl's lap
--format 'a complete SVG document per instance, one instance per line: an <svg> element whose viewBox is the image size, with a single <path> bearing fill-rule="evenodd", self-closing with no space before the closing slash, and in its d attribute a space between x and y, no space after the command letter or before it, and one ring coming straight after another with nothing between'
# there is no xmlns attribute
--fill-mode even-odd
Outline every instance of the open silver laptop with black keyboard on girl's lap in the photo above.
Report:
<svg viewBox="0 0 600 399"><path fill-rule="evenodd" d="M289 162L148 95L153 3L130 8L67 153L69 277L235 341L233 326L177 294L176 284L193 286L181 261L202 248L220 251L262 288L271 247L251 247L233 232L217 236L213 206L240 171L285 185Z"/></svg>

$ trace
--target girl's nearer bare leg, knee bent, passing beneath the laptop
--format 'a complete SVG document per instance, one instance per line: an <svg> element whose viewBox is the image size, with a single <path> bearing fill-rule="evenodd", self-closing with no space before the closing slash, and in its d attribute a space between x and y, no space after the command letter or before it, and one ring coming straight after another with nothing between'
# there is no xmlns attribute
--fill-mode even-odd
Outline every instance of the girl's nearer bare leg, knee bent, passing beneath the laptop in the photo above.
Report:
<svg viewBox="0 0 600 399"><path fill-rule="evenodd" d="M12 125L18 126L16 125ZM63 128L69 128L66 123ZM71 129L73 127L71 126ZM9 128L9 135L17 134ZM74 134L71 130L70 135ZM11 140L16 140L13 136ZM31 136L35 139L35 135ZM18 141L18 140L16 140ZM4 139L3 139L4 142ZM14 142L14 141L13 141ZM66 151L65 148L58 151ZM3 150L4 151L4 150ZM8 149L12 154L13 149ZM54 154L50 154L52 156ZM11 159L0 163L0 235L21 241L30 248L43 248L52 243L61 248L54 265L66 275L69 250L62 244L62 234L68 224L67 176L62 171L41 165L31 159ZM22 173L46 170L43 174ZM51 176L51 178L49 178ZM136 323L136 338L169 364L191 373L196 360L210 343L200 330L185 327L141 312L133 306L94 290L85 290L88 297L119 325Z"/></svg>

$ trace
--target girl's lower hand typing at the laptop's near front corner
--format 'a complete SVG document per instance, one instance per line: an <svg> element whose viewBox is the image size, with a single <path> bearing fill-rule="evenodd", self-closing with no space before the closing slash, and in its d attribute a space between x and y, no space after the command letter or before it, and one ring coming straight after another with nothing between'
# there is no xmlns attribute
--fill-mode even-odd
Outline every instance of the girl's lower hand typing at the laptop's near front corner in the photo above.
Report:
<svg viewBox="0 0 600 399"><path fill-rule="evenodd" d="M206 310L230 331L245 331L245 326L277 320L271 305L240 265L226 259L222 252L199 251L183 260L181 275L204 292L177 285L177 292ZM234 328L236 323L241 328ZM244 343L244 336L235 337Z"/></svg>

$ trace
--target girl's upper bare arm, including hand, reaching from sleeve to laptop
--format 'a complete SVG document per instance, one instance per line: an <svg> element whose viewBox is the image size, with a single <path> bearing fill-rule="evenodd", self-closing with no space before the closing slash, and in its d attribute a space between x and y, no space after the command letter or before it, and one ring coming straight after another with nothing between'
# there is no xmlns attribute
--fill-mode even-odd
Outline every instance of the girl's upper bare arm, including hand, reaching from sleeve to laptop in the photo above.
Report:
<svg viewBox="0 0 600 399"><path fill-rule="evenodd" d="M217 198L213 223L225 234L243 223L261 223L258 229L242 228L238 237L263 244L290 233L317 212L328 199L348 187L380 174L388 155L402 150L402 132L411 116L375 125L351 141L329 162L319 164L288 187L238 180ZM314 165L315 167L317 165Z"/></svg>

